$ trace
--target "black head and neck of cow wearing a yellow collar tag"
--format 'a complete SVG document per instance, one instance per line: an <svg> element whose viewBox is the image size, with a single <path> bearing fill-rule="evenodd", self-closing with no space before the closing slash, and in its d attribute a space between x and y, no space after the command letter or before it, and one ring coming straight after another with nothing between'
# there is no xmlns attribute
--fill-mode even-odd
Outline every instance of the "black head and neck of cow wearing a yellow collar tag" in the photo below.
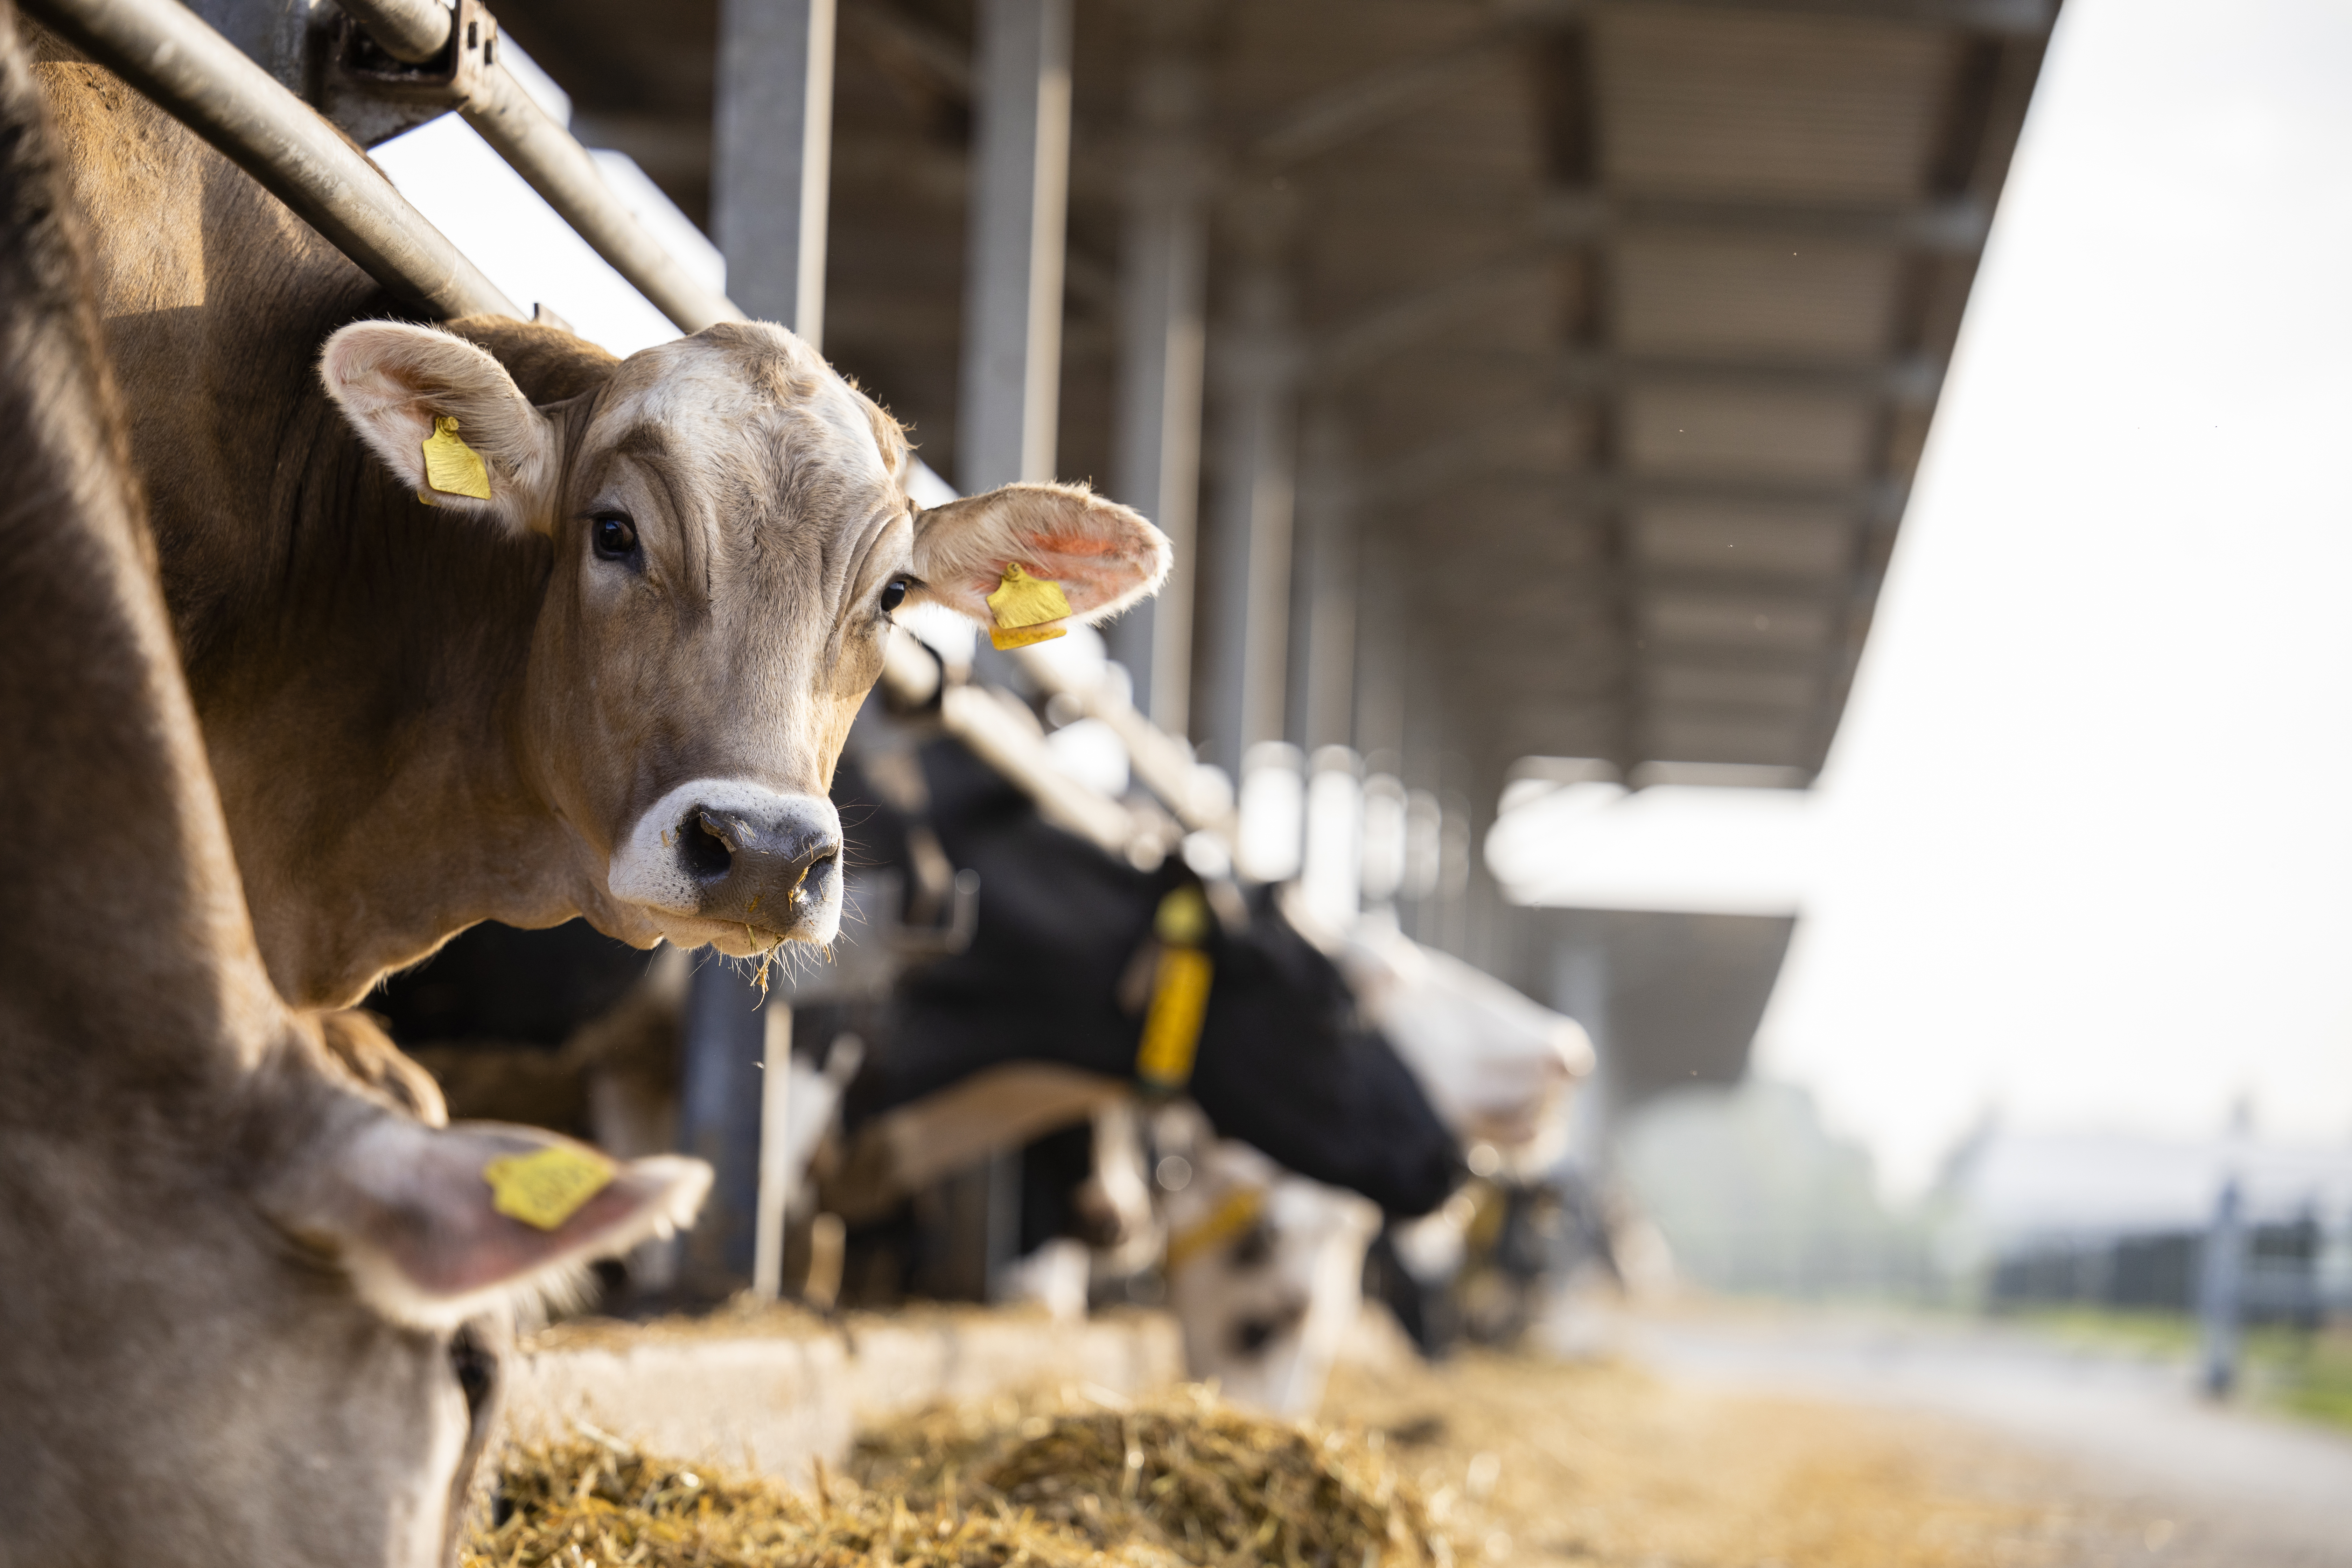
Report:
<svg viewBox="0 0 2352 1568"><path fill-rule="evenodd" d="M910 971L847 1100L856 1133L898 1107L1016 1063L1124 1086L1148 1004L1152 922L1200 879L1178 860L1136 870L1049 825L1014 785L948 738L915 748L917 813L844 759L835 780L868 865L910 865L908 827L978 872L971 943ZM901 778L903 790L910 778ZM1214 980L1183 1093L1223 1138L1399 1215L1428 1213L1461 1178L1456 1138L1338 966L1265 893L1211 889Z"/></svg>

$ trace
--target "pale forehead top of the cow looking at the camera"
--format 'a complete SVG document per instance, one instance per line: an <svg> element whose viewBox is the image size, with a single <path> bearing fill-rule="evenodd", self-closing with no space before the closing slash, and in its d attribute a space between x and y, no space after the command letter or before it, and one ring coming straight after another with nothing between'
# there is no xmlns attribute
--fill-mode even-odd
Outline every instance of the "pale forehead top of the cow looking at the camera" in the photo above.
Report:
<svg viewBox="0 0 2352 1568"><path fill-rule="evenodd" d="M588 430L590 449L656 428L684 461L764 468L818 463L835 484L887 501L891 458L866 402L807 343L764 322L727 324L621 362Z"/></svg>

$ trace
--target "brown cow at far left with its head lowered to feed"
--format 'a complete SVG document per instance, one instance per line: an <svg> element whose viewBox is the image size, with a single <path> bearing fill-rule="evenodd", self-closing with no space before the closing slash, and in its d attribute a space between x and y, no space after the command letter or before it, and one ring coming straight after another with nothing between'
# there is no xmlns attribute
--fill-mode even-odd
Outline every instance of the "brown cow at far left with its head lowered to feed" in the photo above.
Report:
<svg viewBox="0 0 2352 1568"><path fill-rule="evenodd" d="M496 1333L456 1324L682 1220L710 1173L428 1131L278 999L9 21L0 1563L430 1568L496 1406ZM579 1206L508 1218L485 1166L550 1154Z"/></svg>

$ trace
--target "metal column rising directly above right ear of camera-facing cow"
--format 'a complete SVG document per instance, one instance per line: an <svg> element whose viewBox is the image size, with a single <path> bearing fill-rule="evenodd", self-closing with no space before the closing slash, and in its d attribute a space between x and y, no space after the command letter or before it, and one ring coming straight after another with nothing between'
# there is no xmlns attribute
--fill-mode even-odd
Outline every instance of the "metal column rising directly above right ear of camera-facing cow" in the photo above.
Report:
<svg viewBox="0 0 2352 1568"><path fill-rule="evenodd" d="M955 480L1054 477L1070 193L1070 0L981 0Z"/></svg>

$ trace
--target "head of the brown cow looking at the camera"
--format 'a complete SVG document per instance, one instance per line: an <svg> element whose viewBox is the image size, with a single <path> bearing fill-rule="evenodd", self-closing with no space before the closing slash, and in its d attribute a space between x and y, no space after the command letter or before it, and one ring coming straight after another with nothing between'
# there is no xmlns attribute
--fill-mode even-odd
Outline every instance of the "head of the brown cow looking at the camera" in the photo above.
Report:
<svg viewBox="0 0 2352 1568"><path fill-rule="evenodd" d="M1169 564L1157 529L1082 487L913 505L898 425L781 327L642 350L550 407L430 327L343 327L320 374L400 484L553 548L522 766L576 839L581 910L637 945L833 940L826 790L898 604L985 623L1018 564L1098 621ZM447 418L480 482L430 484Z"/></svg>

